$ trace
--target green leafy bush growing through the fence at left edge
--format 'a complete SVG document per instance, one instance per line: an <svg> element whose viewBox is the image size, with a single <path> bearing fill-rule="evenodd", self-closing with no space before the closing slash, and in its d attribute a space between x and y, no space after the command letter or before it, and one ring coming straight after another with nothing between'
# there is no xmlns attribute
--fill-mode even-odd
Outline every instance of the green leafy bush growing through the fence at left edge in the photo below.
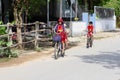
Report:
<svg viewBox="0 0 120 80"><path fill-rule="evenodd" d="M0 25L2 25L2 21L0 21ZM6 34L6 27L0 27L0 35ZM12 42L8 41L8 37L0 37L0 57L18 57L18 52L12 51L10 46ZM3 49L4 47L7 47Z"/></svg>

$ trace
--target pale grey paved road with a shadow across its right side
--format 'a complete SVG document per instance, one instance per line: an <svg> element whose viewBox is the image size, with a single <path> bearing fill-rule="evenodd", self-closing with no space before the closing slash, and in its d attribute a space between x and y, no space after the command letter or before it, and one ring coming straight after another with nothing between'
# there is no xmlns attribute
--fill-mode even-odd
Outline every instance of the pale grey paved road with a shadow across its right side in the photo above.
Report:
<svg viewBox="0 0 120 80"><path fill-rule="evenodd" d="M0 80L120 80L120 37L67 50L65 58L43 58L0 68Z"/></svg>

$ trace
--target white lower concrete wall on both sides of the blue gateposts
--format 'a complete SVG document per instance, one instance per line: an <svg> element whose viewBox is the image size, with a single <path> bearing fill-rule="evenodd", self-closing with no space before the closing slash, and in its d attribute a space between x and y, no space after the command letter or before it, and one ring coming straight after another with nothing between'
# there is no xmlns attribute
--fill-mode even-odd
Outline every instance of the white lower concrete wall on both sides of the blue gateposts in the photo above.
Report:
<svg viewBox="0 0 120 80"><path fill-rule="evenodd" d="M86 35L87 24L83 21L75 21L71 23L72 25L72 36L79 37ZM95 32L101 31L112 31L116 29L116 20L96 20L95 21Z"/></svg>

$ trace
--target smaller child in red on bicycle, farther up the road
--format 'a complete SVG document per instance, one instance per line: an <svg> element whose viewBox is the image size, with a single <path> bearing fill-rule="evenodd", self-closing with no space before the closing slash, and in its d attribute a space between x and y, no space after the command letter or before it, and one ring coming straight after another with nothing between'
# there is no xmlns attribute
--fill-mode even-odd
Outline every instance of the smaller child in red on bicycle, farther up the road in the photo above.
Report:
<svg viewBox="0 0 120 80"><path fill-rule="evenodd" d="M93 22L90 21L87 26L87 48L92 47L93 31L94 31ZM90 39L91 39L91 43L89 42Z"/></svg>

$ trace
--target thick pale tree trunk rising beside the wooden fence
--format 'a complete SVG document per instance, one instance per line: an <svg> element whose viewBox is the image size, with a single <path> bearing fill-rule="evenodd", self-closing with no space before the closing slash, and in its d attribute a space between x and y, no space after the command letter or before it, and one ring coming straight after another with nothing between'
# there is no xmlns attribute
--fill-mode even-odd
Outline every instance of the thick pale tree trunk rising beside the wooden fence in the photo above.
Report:
<svg viewBox="0 0 120 80"><path fill-rule="evenodd" d="M20 44L20 48L22 49L22 37L21 37L21 26L23 23L22 19L22 12L23 9L26 8L25 3L27 0L14 0L13 2L13 7L14 7L14 20L15 20L15 25L17 27L17 39L18 43Z"/></svg>

